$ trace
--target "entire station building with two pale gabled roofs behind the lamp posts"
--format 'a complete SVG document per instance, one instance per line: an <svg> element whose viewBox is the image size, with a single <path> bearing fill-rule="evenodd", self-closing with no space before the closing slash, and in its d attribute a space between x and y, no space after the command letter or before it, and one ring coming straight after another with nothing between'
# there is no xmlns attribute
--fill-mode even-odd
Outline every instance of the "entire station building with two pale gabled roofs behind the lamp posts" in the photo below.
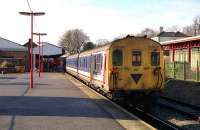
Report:
<svg viewBox="0 0 200 130"><path fill-rule="evenodd" d="M30 71L30 39L24 45L0 37L0 73L16 73ZM63 71L65 60L61 56L64 54L62 47L41 43L42 70ZM33 42L34 70L38 70L39 46Z"/></svg>

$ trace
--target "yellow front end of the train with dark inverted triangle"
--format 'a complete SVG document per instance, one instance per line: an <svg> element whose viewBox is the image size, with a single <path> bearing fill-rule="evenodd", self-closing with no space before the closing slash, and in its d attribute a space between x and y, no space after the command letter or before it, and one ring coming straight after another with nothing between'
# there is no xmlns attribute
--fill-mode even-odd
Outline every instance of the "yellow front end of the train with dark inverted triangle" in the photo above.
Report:
<svg viewBox="0 0 200 130"><path fill-rule="evenodd" d="M115 97L137 100L162 90L164 61L159 43L141 37L117 40L110 46L109 59L109 86Z"/></svg>

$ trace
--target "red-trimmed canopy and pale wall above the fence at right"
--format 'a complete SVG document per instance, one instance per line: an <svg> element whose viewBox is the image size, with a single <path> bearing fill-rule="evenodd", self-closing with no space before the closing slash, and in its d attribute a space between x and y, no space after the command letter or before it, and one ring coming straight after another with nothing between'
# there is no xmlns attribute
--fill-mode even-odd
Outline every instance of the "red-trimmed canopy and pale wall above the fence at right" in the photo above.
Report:
<svg viewBox="0 0 200 130"><path fill-rule="evenodd" d="M187 37L161 42L163 49L168 51L167 62L188 62L194 65L200 62L200 36Z"/></svg>

